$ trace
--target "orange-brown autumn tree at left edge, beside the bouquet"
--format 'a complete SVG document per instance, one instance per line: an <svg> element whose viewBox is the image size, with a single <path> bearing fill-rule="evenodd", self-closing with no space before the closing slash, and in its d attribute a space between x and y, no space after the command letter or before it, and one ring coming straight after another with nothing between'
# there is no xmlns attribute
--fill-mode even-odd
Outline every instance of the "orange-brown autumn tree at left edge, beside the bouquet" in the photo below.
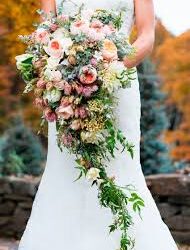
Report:
<svg viewBox="0 0 190 250"><path fill-rule="evenodd" d="M39 112L32 104L32 98L21 95L24 83L15 67L15 56L22 54L25 45L18 35L29 34L38 21L35 0L2 0L0 2L0 132L7 126L12 115L22 115L25 121L36 130L39 127ZM6 105L5 105L6 104ZM14 111L14 112L13 112Z"/></svg>

